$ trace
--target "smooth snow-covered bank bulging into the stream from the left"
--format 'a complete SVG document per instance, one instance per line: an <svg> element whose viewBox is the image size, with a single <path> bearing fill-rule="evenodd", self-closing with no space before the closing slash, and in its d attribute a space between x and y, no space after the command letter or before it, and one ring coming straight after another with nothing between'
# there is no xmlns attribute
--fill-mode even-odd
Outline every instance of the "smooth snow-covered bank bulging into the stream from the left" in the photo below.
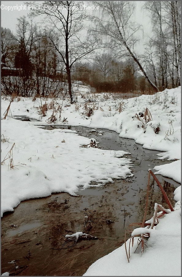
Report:
<svg viewBox="0 0 182 277"><path fill-rule="evenodd" d="M69 130L43 130L13 118L2 120L4 142L2 160L13 143L13 169L9 153L1 166L1 212L13 211L21 201L45 197L52 192L76 195L79 186L99 186L112 178L125 179L131 174L131 161L120 158L124 151L82 148L90 139ZM8 141L5 141L8 140Z"/></svg>

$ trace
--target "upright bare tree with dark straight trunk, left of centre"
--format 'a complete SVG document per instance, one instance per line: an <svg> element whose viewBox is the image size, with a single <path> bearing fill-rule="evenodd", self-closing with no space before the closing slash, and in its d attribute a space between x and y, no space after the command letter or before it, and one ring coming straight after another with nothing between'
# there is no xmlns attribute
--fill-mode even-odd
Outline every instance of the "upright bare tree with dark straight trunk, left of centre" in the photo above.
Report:
<svg viewBox="0 0 182 277"><path fill-rule="evenodd" d="M27 3L31 4L31 3ZM84 37L84 21L88 18L84 10L74 9L73 1L46 1L43 3L54 9L32 10L31 15L43 14L46 16L48 38L59 53L67 75L68 92L71 103L76 101L71 83L71 68L78 62L100 47L99 39ZM83 4L76 2L77 6ZM38 5L37 5L38 6ZM59 9L62 6L63 9Z"/></svg>

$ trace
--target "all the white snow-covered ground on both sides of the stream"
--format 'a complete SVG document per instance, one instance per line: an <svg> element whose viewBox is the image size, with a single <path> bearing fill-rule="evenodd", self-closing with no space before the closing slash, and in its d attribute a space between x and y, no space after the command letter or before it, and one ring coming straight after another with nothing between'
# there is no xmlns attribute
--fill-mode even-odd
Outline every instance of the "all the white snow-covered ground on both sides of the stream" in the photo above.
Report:
<svg viewBox="0 0 182 277"><path fill-rule="evenodd" d="M163 151L159 159L168 159L171 163L155 167L157 173L181 183L180 87L129 99L106 93L92 94L84 86L77 86L77 89L78 105L70 105L68 100L42 98L42 105L45 101L49 105L45 116L40 112L40 98L34 102L32 98L16 98L11 103L13 116L28 116L41 122L21 122L10 117L2 120L2 160L15 143L13 155L9 156L12 154L9 153L9 159L1 166L2 214L13 211L24 199L60 191L75 195L79 186L90 186L91 181L97 181L99 185L111 181L111 178L131 175L130 160L117 158L126 154L122 149L116 152L82 148L81 145L90 143L92 134L87 139L71 130L43 130L34 126L49 125L46 121L53 113L53 103L56 125L110 129L120 137L135 139L144 148ZM2 114L9 101L10 97L2 97ZM90 117L87 114L89 108L93 109ZM149 111L145 119L146 108ZM148 115L152 119L149 122ZM12 157L14 170L8 166ZM179 190L176 201L180 200ZM179 228L180 210L176 210L160 219L142 257L141 254L132 254L128 264L122 246L94 263L86 275L180 275ZM168 267L165 267L166 262Z"/></svg>

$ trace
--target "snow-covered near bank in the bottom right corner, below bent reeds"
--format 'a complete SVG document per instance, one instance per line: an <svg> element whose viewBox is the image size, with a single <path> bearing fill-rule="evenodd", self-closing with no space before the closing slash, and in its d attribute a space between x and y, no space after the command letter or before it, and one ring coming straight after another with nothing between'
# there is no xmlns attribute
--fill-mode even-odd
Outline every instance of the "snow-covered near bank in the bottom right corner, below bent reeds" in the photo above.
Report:
<svg viewBox="0 0 182 277"><path fill-rule="evenodd" d="M179 187L181 188L181 187ZM177 190L179 190L177 188ZM177 200L177 199L176 199ZM179 200L179 198L178 198ZM181 208L166 214L156 228L150 230L144 253L134 253L131 247L127 262L124 244L93 263L83 276L181 276ZM127 240L127 248L129 239Z"/></svg>

